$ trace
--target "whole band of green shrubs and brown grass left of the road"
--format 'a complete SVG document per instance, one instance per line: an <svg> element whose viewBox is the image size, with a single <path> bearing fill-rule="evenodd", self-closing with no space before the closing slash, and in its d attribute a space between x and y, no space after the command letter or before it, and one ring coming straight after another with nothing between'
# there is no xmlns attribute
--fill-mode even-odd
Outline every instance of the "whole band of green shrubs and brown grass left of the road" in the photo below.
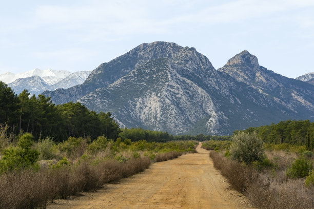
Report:
<svg viewBox="0 0 314 209"><path fill-rule="evenodd" d="M50 137L34 141L0 126L0 208L45 208L56 198L96 190L148 168L150 163L195 152L195 141L147 142L105 136Z"/></svg>

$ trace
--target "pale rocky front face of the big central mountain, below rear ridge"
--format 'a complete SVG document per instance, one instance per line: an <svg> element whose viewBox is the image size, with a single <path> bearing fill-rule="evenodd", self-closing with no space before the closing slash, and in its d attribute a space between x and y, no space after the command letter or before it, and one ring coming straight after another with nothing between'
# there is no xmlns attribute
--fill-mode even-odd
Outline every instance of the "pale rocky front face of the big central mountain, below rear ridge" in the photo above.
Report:
<svg viewBox="0 0 314 209"><path fill-rule="evenodd" d="M172 134L230 134L299 117L259 89L216 71L194 48L148 60L78 101L97 112L110 111L123 126Z"/></svg>

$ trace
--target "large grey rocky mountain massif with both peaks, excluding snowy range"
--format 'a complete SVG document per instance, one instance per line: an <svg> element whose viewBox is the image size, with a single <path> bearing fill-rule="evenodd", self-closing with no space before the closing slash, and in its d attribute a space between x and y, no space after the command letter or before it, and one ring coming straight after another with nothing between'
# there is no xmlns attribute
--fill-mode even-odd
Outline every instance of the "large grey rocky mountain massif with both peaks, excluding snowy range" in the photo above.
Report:
<svg viewBox="0 0 314 209"><path fill-rule="evenodd" d="M162 41L101 64L81 85L43 94L109 111L123 127L171 134L231 134L314 118L314 86L267 70L249 52L215 70L195 48Z"/></svg>

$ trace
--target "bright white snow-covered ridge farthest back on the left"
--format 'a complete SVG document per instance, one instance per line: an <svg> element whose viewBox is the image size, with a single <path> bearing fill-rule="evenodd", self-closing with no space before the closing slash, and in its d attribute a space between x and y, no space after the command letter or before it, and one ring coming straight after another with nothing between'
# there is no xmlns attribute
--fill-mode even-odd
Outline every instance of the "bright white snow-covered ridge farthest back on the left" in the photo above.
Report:
<svg viewBox="0 0 314 209"><path fill-rule="evenodd" d="M51 69L41 70L41 69L36 68L33 70L29 70L23 73L16 73L16 74L7 72L0 75L0 80L6 83L11 83L18 78L28 78L28 77L32 77L36 75L43 78L49 85L52 85L62 80L63 78L67 77L70 74L71 73L69 71L56 71L56 70L51 70Z"/></svg>

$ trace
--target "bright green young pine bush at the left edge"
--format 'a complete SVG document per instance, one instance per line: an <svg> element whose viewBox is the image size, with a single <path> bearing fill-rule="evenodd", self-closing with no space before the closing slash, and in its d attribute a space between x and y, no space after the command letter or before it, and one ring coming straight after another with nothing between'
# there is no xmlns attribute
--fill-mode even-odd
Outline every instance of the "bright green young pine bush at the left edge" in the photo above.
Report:
<svg viewBox="0 0 314 209"><path fill-rule="evenodd" d="M39 165L36 164L39 152L31 149L32 138L33 136L29 133L23 134L19 137L16 148L10 147L3 151L0 173L26 168L39 169Z"/></svg>

